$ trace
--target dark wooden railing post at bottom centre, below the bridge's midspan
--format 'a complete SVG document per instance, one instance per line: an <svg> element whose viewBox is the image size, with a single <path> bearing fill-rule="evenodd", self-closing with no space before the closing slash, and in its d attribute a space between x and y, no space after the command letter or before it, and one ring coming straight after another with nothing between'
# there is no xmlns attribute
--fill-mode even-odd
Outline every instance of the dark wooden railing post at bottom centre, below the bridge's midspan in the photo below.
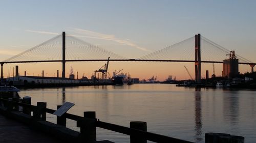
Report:
<svg viewBox="0 0 256 143"><path fill-rule="evenodd" d="M141 122L141 121L130 122L130 128L146 131L146 122ZM136 134L131 134L130 142L131 143L136 143L136 142L146 143L146 138L136 135Z"/></svg>

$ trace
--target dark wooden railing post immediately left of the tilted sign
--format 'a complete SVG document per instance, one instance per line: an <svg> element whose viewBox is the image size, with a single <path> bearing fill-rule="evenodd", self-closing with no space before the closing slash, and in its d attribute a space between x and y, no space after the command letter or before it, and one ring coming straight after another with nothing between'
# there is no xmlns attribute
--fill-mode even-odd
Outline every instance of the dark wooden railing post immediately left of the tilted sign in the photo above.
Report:
<svg viewBox="0 0 256 143"><path fill-rule="evenodd" d="M46 121L46 102L37 102L33 111L33 119Z"/></svg>

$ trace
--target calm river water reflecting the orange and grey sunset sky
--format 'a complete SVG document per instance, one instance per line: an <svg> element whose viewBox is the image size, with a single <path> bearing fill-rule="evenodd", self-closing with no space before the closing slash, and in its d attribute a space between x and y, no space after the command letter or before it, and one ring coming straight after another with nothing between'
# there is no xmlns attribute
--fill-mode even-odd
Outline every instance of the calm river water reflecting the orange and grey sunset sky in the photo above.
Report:
<svg viewBox="0 0 256 143"><path fill-rule="evenodd" d="M130 121L147 122L147 131L193 142L204 142L207 132L229 133L256 140L256 91L176 87L174 84L133 84L22 90L32 104L47 108L72 102L68 111L83 116L96 111L103 122L129 127ZM56 117L47 114L47 121ZM67 120L67 127L79 131ZM97 140L130 142L130 137L97 128Z"/></svg>

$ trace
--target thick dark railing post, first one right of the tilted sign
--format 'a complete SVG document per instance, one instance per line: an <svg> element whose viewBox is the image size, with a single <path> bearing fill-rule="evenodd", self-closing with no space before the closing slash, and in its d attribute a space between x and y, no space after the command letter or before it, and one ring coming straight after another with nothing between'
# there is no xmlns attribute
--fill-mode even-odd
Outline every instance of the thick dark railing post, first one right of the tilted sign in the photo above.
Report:
<svg viewBox="0 0 256 143"><path fill-rule="evenodd" d="M95 111L83 112L83 117L77 120L80 127L79 142L96 142L96 113Z"/></svg>

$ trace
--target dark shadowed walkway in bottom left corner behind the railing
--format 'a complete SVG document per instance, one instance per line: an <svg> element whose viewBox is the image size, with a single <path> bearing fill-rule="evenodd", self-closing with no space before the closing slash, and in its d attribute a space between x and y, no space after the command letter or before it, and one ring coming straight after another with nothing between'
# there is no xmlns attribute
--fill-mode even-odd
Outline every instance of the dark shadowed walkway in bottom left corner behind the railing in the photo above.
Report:
<svg viewBox="0 0 256 143"><path fill-rule="evenodd" d="M60 143L62 141L57 140L42 132L31 130L28 126L6 118L0 114L0 142L5 143L32 143L32 142L48 142L48 143Z"/></svg>

